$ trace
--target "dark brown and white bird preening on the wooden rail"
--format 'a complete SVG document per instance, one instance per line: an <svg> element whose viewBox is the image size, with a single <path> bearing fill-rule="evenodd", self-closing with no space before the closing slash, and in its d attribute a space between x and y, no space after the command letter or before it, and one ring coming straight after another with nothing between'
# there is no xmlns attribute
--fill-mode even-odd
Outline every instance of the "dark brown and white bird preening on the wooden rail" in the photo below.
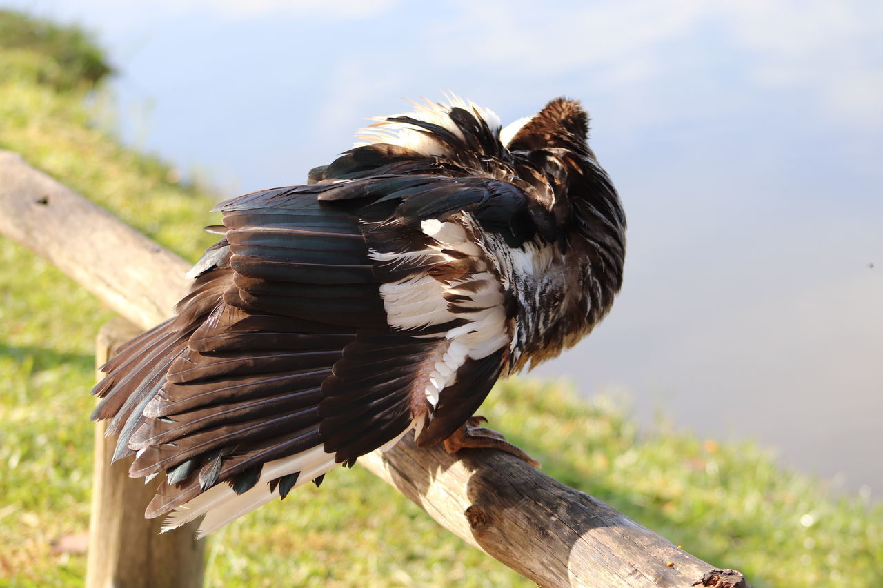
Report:
<svg viewBox="0 0 883 588"><path fill-rule="evenodd" d="M622 203L576 100L506 127L455 94L411 108L306 184L218 205L175 316L102 366L93 418L130 476L164 476L163 531L215 531L411 431L537 464L474 413L608 313Z"/></svg>

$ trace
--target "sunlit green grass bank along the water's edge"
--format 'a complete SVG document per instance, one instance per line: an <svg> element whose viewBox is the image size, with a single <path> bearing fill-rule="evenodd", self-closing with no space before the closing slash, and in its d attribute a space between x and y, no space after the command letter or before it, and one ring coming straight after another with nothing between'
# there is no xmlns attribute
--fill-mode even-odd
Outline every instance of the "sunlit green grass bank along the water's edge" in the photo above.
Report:
<svg viewBox="0 0 883 588"><path fill-rule="evenodd" d="M102 132L87 87L40 74L58 63L46 47L0 49L0 147L194 259L213 240L199 230L216 222L212 196ZM4 239L0 298L0 585L80 585L85 555L51 545L88 528L87 391L94 335L110 313ZM550 475L758 587L883 584L883 508L832 497L754 444L642 435L614 403L548 382L502 383L481 412ZM532 585L358 466L209 541L211 586Z"/></svg>

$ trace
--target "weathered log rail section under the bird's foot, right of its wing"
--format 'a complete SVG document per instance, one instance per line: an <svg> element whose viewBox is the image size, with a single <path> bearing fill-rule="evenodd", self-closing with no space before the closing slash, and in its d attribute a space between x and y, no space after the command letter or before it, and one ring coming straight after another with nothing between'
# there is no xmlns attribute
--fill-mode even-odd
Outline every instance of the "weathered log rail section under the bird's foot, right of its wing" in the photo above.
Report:
<svg viewBox="0 0 883 588"><path fill-rule="evenodd" d="M395 449L358 464L541 586L691 586L712 569L604 502L500 451L451 456L438 446L418 448L409 434Z"/></svg>

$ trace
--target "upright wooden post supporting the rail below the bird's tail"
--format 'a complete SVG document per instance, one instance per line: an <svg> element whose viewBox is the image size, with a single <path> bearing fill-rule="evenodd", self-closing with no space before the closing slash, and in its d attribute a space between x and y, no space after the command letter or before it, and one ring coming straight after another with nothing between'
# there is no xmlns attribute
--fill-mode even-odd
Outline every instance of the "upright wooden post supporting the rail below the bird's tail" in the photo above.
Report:
<svg viewBox="0 0 883 588"><path fill-rule="evenodd" d="M96 366L139 332L140 328L122 319L104 325L95 346ZM105 437L105 428L103 422L95 426L86 588L198 588L206 544L193 539L199 524L161 535L162 519L144 518L144 507L162 477L148 484L129 478L132 457L111 467L116 438Z"/></svg>

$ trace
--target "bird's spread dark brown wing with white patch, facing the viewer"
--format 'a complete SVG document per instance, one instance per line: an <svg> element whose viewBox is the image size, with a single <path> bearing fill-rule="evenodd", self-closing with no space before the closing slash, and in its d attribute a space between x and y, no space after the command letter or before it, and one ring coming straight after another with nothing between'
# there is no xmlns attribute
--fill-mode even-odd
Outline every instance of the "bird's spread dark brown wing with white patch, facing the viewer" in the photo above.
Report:
<svg viewBox="0 0 883 588"><path fill-rule="evenodd" d="M103 367L116 457L166 476L147 516L212 531L412 427L442 441L487 396L514 334L488 248L550 221L515 185L391 149L223 203L177 317Z"/></svg>

